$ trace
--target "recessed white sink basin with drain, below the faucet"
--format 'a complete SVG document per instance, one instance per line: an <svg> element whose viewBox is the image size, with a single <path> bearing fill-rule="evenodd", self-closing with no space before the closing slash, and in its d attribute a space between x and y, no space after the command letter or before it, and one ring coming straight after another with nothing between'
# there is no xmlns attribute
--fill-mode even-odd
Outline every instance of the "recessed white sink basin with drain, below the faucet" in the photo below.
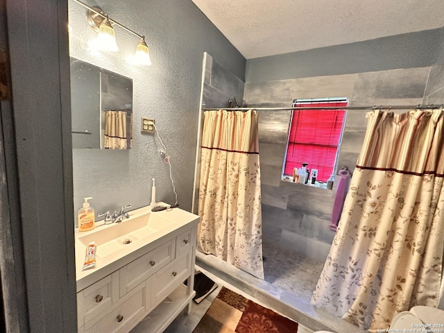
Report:
<svg viewBox="0 0 444 333"><path fill-rule="evenodd" d="M153 234L168 228L172 223L174 223L173 220L155 212L148 214L132 214L130 212L129 219L120 223L99 226L92 232L80 235L78 241L84 246L94 241L97 246L96 257L104 258L123 248L133 247L142 241L146 241Z"/></svg>

